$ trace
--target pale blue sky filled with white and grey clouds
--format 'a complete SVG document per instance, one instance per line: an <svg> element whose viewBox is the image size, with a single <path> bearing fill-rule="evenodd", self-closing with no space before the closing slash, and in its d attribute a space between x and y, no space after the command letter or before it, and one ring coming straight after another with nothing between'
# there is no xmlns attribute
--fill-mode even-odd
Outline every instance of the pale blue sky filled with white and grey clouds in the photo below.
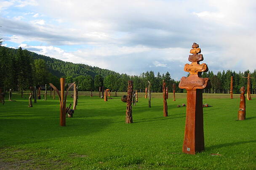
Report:
<svg viewBox="0 0 256 170"><path fill-rule="evenodd" d="M0 38L118 73L183 70L193 42L209 71L256 68L255 0L0 0Z"/></svg>

